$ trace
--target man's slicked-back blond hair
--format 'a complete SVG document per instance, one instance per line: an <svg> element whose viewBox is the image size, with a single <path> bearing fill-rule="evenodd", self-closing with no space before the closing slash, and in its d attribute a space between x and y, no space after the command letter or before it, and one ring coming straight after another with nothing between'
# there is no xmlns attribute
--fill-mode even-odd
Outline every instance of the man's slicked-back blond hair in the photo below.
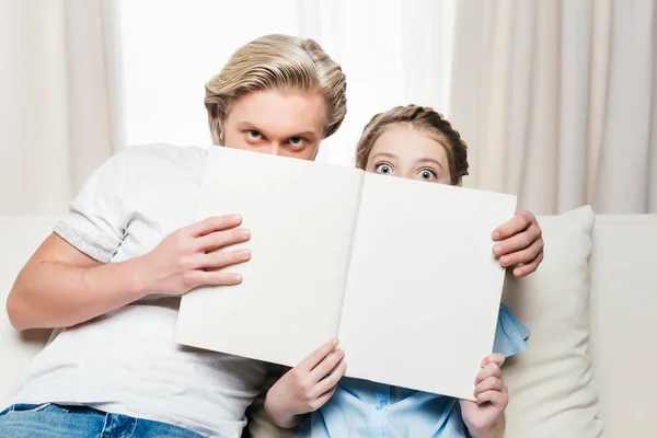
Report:
<svg viewBox="0 0 657 438"><path fill-rule="evenodd" d="M318 43L267 35L239 48L206 84L205 106L215 145L223 145L220 122L230 104L264 89L319 90L326 102L324 138L337 130L347 114L346 77Z"/></svg>

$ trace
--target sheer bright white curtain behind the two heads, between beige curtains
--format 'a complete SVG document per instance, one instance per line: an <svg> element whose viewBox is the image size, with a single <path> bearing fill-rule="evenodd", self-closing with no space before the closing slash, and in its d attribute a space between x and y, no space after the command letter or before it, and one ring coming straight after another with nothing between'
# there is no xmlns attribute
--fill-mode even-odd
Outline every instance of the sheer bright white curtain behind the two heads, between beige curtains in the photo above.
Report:
<svg viewBox="0 0 657 438"><path fill-rule="evenodd" d="M209 145L205 82L241 45L285 33L316 39L347 74L346 120L318 159L353 165L376 113L446 110L454 1L122 0L127 141Z"/></svg>

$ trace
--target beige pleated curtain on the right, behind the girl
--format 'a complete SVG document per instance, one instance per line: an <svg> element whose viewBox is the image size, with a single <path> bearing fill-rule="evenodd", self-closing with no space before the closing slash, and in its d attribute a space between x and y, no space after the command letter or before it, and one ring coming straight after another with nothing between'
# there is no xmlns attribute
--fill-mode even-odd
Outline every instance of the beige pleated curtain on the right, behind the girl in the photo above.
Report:
<svg viewBox="0 0 657 438"><path fill-rule="evenodd" d="M537 214L657 212L654 0L462 0L456 15L466 185Z"/></svg>

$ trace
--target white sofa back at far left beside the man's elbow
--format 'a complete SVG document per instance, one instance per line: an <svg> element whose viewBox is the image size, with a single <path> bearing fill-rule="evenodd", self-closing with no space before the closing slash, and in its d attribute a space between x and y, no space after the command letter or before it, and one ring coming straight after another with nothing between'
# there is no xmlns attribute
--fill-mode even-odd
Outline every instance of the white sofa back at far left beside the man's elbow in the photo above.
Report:
<svg viewBox="0 0 657 438"><path fill-rule="evenodd" d="M50 331L16 332L9 323L4 302L19 272L57 222L51 217L0 218L0 401L30 360L44 347Z"/></svg>

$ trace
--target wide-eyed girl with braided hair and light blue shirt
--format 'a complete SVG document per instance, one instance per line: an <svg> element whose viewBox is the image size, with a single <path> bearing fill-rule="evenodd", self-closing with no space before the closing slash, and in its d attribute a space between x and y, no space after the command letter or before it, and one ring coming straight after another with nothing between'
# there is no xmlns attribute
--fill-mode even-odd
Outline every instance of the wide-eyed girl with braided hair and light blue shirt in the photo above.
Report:
<svg viewBox="0 0 657 438"><path fill-rule="evenodd" d="M376 115L365 127L356 165L367 172L461 185L468 174L468 149L440 114L400 106ZM265 411L276 425L288 428L311 413L298 437L502 437L508 396L500 368L505 357L527 347L528 335L502 304L495 354L483 359L475 379L476 402L341 380L346 362L334 339L278 380L267 393Z"/></svg>

